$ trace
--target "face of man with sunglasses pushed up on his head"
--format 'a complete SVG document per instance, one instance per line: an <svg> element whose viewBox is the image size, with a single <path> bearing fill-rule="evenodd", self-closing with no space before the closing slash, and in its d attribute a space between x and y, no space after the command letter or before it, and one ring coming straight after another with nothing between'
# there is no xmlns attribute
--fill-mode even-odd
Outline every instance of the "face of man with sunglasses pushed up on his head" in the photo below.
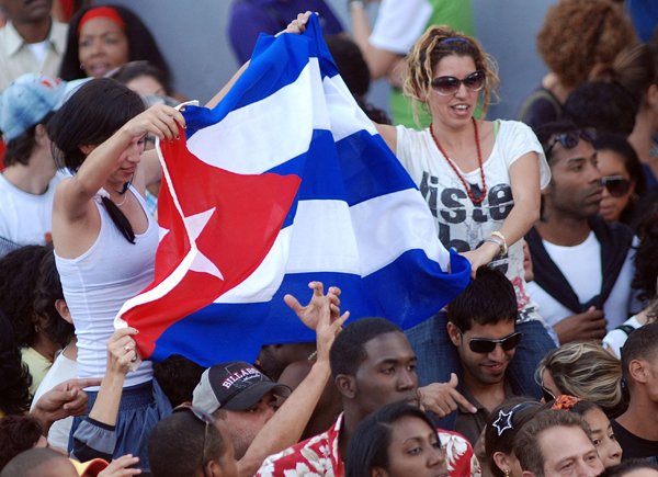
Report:
<svg viewBox="0 0 658 477"><path fill-rule="evenodd" d="M548 188L554 211L577 217L591 217L599 213L603 186L597 163L597 151L585 139L570 149L560 143L555 145L551 154L552 180Z"/></svg>

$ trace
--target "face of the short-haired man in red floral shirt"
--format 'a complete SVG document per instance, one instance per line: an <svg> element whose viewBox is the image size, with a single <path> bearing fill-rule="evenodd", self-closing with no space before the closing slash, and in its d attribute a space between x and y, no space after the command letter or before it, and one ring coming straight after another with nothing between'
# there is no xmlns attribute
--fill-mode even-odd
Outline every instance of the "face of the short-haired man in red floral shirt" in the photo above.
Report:
<svg viewBox="0 0 658 477"><path fill-rule="evenodd" d="M416 354L400 331L379 334L365 343L367 357L354 376L358 402L364 414L393 404L418 406Z"/></svg>

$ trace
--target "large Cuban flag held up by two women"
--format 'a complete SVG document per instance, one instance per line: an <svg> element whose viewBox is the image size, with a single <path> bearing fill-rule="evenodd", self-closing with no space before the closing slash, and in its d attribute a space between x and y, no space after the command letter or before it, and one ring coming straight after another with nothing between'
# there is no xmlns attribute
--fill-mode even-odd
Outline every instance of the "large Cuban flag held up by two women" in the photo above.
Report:
<svg viewBox="0 0 658 477"><path fill-rule="evenodd" d="M351 319L402 329L468 284L468 261L439 241L316 15L303 35L261 36L219 104L183 114L186 138L159 145L155 281L116 323L139 330L143 359L253 362L263 344L315 341L283 300L307 302L311 281L339 286Z"/></svg>

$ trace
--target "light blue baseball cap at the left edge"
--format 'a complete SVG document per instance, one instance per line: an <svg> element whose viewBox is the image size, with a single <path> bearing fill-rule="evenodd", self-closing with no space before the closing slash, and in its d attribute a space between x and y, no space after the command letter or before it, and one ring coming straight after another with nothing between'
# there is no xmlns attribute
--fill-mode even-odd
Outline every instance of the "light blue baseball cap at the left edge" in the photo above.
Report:
<svg viewBox="0 0 658 477"><path fill-rule="evenodd" d="M34 72L18 78L0 95L0 130L4 140L15 139L49 112L59 110L89 80L64 81Z"/></svg>

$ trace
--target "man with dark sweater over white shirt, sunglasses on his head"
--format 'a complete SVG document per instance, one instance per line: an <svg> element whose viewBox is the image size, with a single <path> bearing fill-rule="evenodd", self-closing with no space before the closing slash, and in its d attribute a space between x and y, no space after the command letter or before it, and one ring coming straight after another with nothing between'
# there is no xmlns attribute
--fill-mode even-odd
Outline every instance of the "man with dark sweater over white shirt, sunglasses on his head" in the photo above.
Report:
<svg viewBox="0 0 658 477"><path fill-rule="evenodd" d="M553 177L542 191L542 219L526 236L534 265L527 289L560 343L600 340L606 325L612 329L634 311L633 231L598 215L603 184L594 129L559 122L537 137Z"/></svg>

